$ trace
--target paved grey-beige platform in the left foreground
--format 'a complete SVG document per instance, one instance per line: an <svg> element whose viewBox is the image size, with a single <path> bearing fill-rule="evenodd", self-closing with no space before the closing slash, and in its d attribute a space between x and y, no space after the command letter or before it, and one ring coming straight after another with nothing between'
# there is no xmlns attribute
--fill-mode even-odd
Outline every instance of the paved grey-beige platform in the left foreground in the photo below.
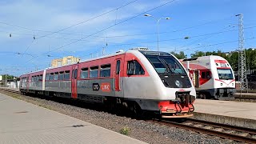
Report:
<svg viewBox="0 0 256 144"><path fill-rule="evenodd" d="M0 94L0 143L145 143Z"/></svg>

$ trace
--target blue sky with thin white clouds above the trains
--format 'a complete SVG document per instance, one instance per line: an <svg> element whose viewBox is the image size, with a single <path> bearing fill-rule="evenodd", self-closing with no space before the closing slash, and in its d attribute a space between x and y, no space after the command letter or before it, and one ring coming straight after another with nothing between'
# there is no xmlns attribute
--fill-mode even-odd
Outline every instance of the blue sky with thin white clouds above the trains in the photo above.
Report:
<svg viewBox="0 0 256 144"><path fill-rule="evenodd" d="M254 48L254 6L254 0L1 0L0 74L42 70L68 55L95 58L103 47L105 54L147 47L188 58L196 50L238 50L236 14L243 14L244 47Z"/></svg>

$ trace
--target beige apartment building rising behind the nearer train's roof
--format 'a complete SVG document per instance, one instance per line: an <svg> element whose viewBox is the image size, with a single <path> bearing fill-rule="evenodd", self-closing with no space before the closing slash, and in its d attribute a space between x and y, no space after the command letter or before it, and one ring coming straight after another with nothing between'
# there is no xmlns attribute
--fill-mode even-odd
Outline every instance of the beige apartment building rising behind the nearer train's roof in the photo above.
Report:
<svg viewBox="0 0 256 144"><path fill-rule="evenodd" d="M70 65L72 63L79 62L80 58L75 58L74 56L67 56L63 58L53 59L50 63L51 67L65 66Z"/></svg>

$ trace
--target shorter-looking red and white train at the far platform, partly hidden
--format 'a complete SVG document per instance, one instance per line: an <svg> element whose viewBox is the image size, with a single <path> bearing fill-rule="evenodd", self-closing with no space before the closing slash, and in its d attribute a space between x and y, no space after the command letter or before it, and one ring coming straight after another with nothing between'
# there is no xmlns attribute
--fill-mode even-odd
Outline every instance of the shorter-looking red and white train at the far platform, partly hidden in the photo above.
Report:
<svg viewBox="0 0 256 144"><path fill-rule="evenodd" d="M181 61L190 74L198 98L234 98L234 72L225 58L210 55Z"/></svg>

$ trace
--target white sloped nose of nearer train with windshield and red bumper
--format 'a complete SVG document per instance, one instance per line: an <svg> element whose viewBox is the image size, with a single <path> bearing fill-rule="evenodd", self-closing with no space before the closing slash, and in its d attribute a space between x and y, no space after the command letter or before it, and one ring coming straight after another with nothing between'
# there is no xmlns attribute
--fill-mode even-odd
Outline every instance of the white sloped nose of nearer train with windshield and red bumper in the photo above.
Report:
<svg viewBox="0 0 256 144"><path fill-rule="evenodd" d="M150 62L147 70L154 78L152 85L158 94L158 110L162 118L193 116L196 92L181 62L166 52L140 52Z"/></svg>

